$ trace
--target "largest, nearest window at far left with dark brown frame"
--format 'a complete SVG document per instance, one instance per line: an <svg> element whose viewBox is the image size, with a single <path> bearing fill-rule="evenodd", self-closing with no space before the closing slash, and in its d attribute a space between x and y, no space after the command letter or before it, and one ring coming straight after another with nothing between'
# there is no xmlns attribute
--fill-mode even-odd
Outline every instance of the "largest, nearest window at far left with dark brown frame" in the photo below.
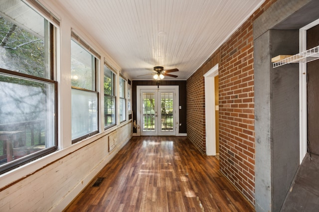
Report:
<svg viewBox="0 0 319 212"><path fill-rule="evenodd" d="M0 7L0 174L57 149L54 27L24 2Z"/></svg>

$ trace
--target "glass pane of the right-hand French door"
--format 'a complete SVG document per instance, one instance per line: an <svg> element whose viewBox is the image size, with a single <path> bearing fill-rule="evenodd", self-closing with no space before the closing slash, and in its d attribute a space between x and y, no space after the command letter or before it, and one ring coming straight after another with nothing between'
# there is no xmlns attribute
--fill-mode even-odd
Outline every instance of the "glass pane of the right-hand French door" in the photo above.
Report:
<svg viewBox="0 0 319 212"><path fill-rule="evenodd" d="M161 131L173 131L173 92L160 93L160 115Z"/></svg>

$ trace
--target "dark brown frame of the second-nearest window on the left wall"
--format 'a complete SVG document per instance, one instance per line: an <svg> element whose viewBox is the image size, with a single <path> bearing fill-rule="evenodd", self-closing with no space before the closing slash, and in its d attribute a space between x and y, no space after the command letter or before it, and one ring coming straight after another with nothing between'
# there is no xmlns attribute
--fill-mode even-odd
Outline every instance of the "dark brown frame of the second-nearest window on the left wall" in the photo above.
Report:
<svg viewBox="0 0 319 212"><path fill-rule="evenodd" d="M85 134L83 136L80 136L78 138L72 139L72 144L77 143L79 141L83 141L84 139L87 139L89 137L92 137L96 134L98 134L100 132L100 107L99 107L99 101L100 101L100 93L98 91L98 72L99 72L99 59L101 58L95 51L93 51L89 45L87 45L83 40L81 40L79 38L78 35L76 35L73 31L71 32L71 41L74 41L77 45L79 45L80 47L82 47L84 50L86 50L88 53L91 54L92 57L94 57L94 90L88 90L85 88L81 88L81 87L76 87L76 86L72 86L71 85L71 90L72 89L76 89L76 90L82 90L82 91L86 91L86 92L91 92L91 93L95 93L97 94L97 130L96 131L92 131L88 134ZM71 49L71 58L72 58L72 49ZM71 94L72 95L72 94ZM72 111L72 106L71 106L71 111ZM71 118L71 122L72 122L72 118ZM71 127L72 129L72 127ZM72 133L71 133L72 136Z"/></svg>

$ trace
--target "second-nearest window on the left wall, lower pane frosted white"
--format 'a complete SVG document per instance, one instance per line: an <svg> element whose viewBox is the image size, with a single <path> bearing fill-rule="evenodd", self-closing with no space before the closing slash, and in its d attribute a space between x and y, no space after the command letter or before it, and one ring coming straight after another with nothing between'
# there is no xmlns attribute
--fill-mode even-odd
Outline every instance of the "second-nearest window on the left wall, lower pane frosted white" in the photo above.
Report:
<svg viewBox="0 0 319 212"><path fill-rule="evenodd" d="M97 64L96 57L71 40L72 143L98 133Z"/></svg>

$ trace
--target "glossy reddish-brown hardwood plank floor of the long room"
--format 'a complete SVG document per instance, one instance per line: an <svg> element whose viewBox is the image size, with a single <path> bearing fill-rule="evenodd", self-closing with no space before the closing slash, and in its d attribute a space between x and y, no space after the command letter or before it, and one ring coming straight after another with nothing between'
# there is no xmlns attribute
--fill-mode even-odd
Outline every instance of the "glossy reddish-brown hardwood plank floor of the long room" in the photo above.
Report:
<svg viewBox="0 0 319 212"><path fill-rule="evenodd" d="M218 169L186 137L133 137L65 212L253 212Z"/></svg>

